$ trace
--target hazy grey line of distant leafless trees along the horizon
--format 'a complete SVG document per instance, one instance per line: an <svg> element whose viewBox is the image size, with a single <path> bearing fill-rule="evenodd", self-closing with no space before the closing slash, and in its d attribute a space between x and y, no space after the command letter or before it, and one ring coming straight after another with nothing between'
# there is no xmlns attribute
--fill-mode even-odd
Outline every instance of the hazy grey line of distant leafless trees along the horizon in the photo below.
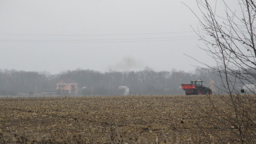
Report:
<svg viewBox="0 0 256 144"><path fill-rule="evenodd" d="M34 93L56 92L56 83L62 78L70 78L79 87L82 95L115 96L118 87L130 87L134 95L170 95L184 94L179 87L182 83L190 83L193 79L202 79L205 86L211 80L219 84L219 77L214 72L196 68L193 72L172 70L156 72L150 68L143 71L130 72L98 72L94 70L77 69L59 74L49 72L26 72L16 70L0 70L0 95L15 96L19 93L33 95ZM216 91L216 93L220 93Z"/></svg>

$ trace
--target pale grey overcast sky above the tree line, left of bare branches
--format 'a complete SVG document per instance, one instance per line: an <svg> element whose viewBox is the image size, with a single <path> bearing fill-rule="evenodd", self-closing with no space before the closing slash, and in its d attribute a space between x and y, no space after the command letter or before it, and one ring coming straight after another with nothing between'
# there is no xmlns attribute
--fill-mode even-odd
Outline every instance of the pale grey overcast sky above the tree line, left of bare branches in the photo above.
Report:
<svg viewBox="0 0 256 144"><path fill-rule="evenodd" d="M0 69L194 71L215 65L182 3L195 0L0 0Z"/></svg>

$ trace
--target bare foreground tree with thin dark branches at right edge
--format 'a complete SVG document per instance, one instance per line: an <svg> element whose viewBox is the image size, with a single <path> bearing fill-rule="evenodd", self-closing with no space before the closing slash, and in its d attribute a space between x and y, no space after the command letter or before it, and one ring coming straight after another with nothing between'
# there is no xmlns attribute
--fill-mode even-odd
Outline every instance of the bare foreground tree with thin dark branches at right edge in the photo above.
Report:
<svg viewBox="0 0 256 144"><path fill-rule="evenodd" d="M238 84L256 86L256 2L255 0L233 0L228 4L222 0L224 10L218 13L217 0L196 0L200 14L196 34L205 43L204 49L216 63L216 67L207 65L207 70L218 73L221 81L219 88L228 96L219 95L230 106L232 115L215 107L212 97L210 102L214 114L223 127L233 132L236 142L256 142L256 92L247 87L244 94L237 90ZM220 1L218 1L220 2ZM239 9L235 9L234 6ZM219 10L219 9L218 9ZM202 14L202 15L201 15ZM243 90L242 90L243 92ZM219 136L222 137L222 136Z"/></svg>

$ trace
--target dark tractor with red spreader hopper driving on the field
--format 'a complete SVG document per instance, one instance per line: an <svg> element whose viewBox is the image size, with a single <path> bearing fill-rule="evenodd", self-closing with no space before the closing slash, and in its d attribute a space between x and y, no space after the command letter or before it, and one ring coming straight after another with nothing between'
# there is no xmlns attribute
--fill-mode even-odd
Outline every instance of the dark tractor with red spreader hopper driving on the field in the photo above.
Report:
<svg viewBox="0 0 256 144"><path fill-rule="evenodd" d="M193 80L191 84L182 84L186 95L211 95L211 89L203 85L202 80Z"/></svg>

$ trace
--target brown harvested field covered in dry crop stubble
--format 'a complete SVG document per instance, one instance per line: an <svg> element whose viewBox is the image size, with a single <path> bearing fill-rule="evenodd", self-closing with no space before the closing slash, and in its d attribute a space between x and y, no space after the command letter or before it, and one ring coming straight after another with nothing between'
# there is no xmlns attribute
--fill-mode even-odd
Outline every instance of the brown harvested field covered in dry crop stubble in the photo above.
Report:
<svg viewBox="0 0 256 144"><path fill-rule="evenodd" d="M206 96L1 98L0 109L2 143L239 142L231 125L209 116Z"/></svg>

